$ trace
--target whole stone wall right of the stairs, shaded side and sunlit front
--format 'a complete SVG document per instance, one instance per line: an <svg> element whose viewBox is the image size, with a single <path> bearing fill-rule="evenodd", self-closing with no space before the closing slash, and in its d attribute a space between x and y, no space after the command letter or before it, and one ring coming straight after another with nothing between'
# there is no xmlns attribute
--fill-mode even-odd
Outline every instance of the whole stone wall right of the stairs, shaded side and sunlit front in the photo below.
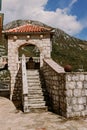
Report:
<svg viewBox="0 0 87 130"><path fill-rule="evenodd" d="M87 116L87 73L67 72L51 59L44 60L43 74L48 102L64 117Z"/></svg>

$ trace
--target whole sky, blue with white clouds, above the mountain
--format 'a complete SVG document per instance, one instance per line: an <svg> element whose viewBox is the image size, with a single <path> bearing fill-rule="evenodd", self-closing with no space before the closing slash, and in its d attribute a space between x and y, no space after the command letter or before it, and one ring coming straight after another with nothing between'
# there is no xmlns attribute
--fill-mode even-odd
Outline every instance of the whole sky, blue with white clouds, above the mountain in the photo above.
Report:
<svg viewBox="0 0 87 130"><path fill-rule="evenodd" d="M2 0L4 24L30 19L87 40L87 0Z"/></svg>

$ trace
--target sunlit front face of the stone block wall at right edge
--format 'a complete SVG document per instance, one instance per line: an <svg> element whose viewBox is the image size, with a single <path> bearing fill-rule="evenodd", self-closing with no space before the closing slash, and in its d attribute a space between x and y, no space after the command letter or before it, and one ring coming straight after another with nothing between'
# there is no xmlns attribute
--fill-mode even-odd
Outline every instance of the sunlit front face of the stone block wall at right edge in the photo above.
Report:
<svg viewBox="0 0 87 130"><path fill-rule="evenodd" d="M87 73L66 73L67 117L87 116Z"/></svg>

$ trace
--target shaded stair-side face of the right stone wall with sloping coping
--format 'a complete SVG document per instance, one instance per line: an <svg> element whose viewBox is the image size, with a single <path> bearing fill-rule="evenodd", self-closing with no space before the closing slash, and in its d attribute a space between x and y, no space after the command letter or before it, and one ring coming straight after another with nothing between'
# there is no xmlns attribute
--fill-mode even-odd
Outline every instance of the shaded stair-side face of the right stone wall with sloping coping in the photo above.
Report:
<svg viewBox="0 0 87 130"><path fill-rule="evenodd" d="M52 59L44 61L43 74L48 94L48 104L53 112L65 116L66 95L65 95L65 73L64 69Z"/></svg>

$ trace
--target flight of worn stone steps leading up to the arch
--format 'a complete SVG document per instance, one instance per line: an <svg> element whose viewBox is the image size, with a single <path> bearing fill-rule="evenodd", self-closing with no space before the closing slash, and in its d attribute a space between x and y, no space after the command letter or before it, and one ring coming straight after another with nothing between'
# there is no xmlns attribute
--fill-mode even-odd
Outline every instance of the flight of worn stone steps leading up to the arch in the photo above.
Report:
<svg viewBox="0 0 87 130"><path fill-rule="evenodd" d="M38 70L27 70L28 105L31 112L47 111Z"/></svg>

